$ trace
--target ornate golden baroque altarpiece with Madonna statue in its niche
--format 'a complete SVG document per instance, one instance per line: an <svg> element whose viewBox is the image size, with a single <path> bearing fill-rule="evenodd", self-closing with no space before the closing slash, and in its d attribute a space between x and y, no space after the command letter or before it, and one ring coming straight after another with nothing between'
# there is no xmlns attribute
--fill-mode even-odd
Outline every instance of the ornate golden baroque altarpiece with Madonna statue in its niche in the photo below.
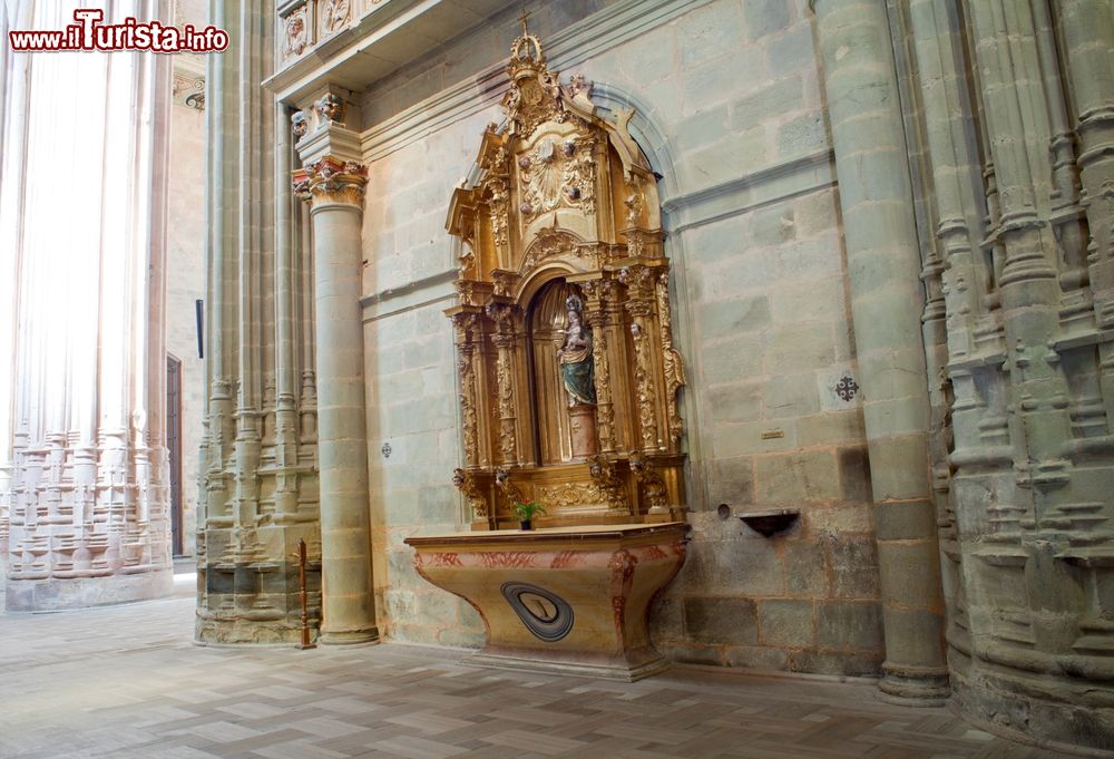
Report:
<svg viewBox="0 0 1114 759"><path fill-rule="evenodd" d="M452 195L460 239L457 344L473 529L671 522L684 512L684 432L670 262L656 178L631 113L597 115L582 76L561 84L538 39L511 48L504 127L479 177Z"/></svg>

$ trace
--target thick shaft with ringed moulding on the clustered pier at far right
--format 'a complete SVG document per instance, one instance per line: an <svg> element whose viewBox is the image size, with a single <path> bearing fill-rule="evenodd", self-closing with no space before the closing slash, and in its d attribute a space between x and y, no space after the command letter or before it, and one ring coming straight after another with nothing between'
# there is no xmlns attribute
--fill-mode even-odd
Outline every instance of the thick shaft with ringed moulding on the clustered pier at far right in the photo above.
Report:
<svg viewBox="0 0 1114 759"><path fill-rule="evenodd" d="M1051 350L1059 335L1061 284L1042 192L1051 189L1047 129L1039 134L1047 124L1044 94L1039 79L1023 76L1034 67L1035 28L1032 16L1012 0L973 0L969 6L986 120L995 136L989 148L1006 250L999 284L1010 383L1022 401L1017 413L1025 453L1015 466L1023 485L1029 480L1037 486L1033 497L1051 505L1062 496L1049 488L1067 479L1064 451L1072 430L1067 385L1059 356ZM1040 163L1033 158L1038 150L1044 152Z"/></svg>

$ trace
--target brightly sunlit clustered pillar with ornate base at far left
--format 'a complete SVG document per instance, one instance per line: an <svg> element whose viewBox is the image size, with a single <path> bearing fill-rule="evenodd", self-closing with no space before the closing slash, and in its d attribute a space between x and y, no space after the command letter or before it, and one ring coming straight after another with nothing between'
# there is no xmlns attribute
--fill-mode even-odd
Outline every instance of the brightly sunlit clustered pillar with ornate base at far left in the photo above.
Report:
<svg viewBox="0 0 1114 759"><path fill-rule="evenodd" d="M29 60L8 62L0 607L163 596L173 588L160 410L170 61L43 56L33 77ZM22 193L48 176L58 178L49 193Z"/></svg>

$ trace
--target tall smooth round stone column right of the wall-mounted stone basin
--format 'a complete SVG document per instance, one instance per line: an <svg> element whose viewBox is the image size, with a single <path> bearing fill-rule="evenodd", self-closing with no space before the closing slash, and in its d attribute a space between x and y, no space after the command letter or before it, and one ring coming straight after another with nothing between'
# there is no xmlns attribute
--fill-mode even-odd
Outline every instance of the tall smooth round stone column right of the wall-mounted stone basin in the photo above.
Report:
<svg viewBox="0 0 1114 759"><path fill-rule="evenodd" d="M929 480L924 292L885 0L813 0L840 179L854 342L874 494L885 697L948 695Z"/></svg>

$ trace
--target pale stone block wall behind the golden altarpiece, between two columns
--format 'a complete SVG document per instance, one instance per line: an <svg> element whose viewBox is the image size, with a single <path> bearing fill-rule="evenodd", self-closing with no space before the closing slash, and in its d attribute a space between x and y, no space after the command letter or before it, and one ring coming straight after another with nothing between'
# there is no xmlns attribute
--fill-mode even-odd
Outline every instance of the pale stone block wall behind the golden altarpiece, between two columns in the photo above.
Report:
<svg viewBox="0 0 1114 759"><path fill-rule="evenodd" d="M395 640L476 645L482 635L470 607L414 574L401 539L463 519L449 483L459 444L441 311L453 303L456 261L443 224L483 125L500 111L481 85L453 77L499 67L506 43L489 38L492 29L512 38L512 10L364 95L373 555L380 626ZM655 613L655 640L677 660L877 673L846 256L803 2L663 2L654 20L627 11L600 12L615 41L594 48L584 42L603 35L598 20L565 18L560 3L530 23L543 40L561 30L547 47L551 67L596 82L606 108L637 109L632 130L664 175L675 338L690 371L694 538ZM586 47L594 52L584 57ZM436 127L411 116L450 101L468 110ZM802 518L768 539L735 516L721 520L720 504L733 515L799 508Z"/></svg>

